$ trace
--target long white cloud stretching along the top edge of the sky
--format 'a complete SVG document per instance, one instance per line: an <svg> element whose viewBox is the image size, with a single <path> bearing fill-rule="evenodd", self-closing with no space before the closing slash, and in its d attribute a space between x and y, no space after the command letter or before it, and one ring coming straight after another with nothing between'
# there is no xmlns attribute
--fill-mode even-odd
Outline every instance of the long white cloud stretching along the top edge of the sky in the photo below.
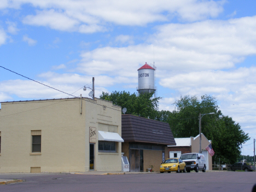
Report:
<svg viewBox="0 0 256 192"><path fill-rule="evenodd" d="M27 15L24 23L48 26L61 31L93 33L106 31L108 23L126 26L144 26L155 21L170 21L178 18L183 21L198 21L216 18L223 11L225 1L72 1L60 0L20 0L4 1L0 8L22 9L30 4L39 8L36 15Z"/></svg>

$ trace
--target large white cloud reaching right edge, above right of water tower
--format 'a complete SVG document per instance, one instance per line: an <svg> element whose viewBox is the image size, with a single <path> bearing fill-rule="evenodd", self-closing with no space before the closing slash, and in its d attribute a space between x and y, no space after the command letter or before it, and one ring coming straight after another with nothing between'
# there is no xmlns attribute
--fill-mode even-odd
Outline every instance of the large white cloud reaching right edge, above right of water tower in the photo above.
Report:
<svg viewBox="0 0 256 192"><path fill-rule="evenodd" d="M158 27L152 37L154 44L175 46L183 50L200 53L243 56L255 54L256 16L230 19L228 21L207 20L193 24L167 24Z"/></svg>

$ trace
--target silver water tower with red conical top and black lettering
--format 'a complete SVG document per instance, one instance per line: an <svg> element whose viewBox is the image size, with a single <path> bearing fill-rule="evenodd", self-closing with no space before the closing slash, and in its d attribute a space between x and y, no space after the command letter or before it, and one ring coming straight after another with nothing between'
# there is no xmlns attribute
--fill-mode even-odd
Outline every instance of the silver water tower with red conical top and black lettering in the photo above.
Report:
<svg viewBox="0 0 256 192"><path fill-rule="evenodd" d="M155 92L155 66L147 64L138 69L138 94Z"/></svg>

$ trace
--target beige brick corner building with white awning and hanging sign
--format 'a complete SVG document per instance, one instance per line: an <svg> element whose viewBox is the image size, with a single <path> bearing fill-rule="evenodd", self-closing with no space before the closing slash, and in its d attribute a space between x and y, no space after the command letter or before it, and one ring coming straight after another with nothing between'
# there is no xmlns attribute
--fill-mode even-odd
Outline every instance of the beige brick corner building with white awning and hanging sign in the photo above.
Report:
<svg viewBox="0 0 256 192"><path fill-rule="evenodd" d="M112 102L2 102L0 121L0 173L121 171L121 107Z"/></svg>

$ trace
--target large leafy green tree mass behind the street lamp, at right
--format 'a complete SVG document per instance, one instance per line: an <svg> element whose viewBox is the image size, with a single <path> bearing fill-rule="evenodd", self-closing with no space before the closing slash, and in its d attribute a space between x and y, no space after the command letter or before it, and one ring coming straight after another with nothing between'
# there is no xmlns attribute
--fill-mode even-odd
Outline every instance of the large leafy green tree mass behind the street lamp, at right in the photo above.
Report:
<svg viewBox="0 0 256 192"><path fill-rule="evenodd" d="M168 123L174 137L195 137L199 134L199 113L205 115L201 121L202 133L212 140L214 158L232 164L240 155L240 146L248 141L249 136L232 118L224 116L219 110L215 97L203 95L201 102L196 96L181 96L174 102L176 108L170 114Z"/></svg>

